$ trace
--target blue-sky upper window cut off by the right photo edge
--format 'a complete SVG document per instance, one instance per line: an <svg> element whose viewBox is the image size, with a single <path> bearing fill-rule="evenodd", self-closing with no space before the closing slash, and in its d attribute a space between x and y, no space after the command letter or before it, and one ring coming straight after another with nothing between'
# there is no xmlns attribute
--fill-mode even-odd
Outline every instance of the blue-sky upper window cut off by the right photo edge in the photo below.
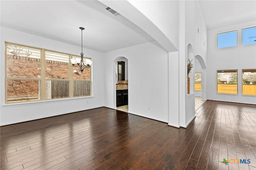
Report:
<svg viewBox="0 0 256 170"><path fill-rule="evenodd" d="M243 45L256 43L256 27L242 29Z"/></svg>

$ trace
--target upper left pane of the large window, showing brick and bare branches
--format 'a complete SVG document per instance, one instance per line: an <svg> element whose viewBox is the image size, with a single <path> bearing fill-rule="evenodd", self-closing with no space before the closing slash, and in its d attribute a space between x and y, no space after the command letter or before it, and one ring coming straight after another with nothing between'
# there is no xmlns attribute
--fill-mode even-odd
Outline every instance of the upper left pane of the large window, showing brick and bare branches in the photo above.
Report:
<svg viewBox="0 0 256 170"><path fill-rule="evenodd" d="M38 49L7 44L7 77L40 78L41 51Z"/></svg>

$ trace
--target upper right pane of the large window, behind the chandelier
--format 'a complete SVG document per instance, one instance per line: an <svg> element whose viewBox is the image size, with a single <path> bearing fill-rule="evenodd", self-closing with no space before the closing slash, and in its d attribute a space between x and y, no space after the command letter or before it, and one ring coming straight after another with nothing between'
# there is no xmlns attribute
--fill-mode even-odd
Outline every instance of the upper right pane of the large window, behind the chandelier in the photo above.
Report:
<svg viewBox="0 0 256 170"><path fill-rule="evenodd" d="M73 56L72 58L76 59L76 58L81 58L81 57ZM84 71L82 73L78 67L72 67L72 69L73 69L72 79L74 79L74 80L79 80L79 79L90 80L91 79L91 69L90 68L84 69Z"/></svg>

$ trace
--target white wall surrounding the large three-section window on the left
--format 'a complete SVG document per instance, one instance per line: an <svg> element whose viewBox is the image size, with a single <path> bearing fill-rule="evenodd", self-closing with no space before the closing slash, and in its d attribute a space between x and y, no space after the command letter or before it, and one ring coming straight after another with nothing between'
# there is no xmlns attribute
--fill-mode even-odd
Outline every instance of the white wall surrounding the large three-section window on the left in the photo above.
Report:
<svg viewBox="0 0 256 170"><path fill-rule="evenodd" d="M79 55L80 47L57 42L47 38L34 36L24 32L1 27L1 51L0 51L0 125L8 125L23 121L30 121L45 117L72 113L104 105L104 63L102 62L103 53L86 49L85 56L91 57L92 68L92 95L89 98L64 99L46 102L31 102L26 104L5 104L5 59L4 41L40 47L64 53ZM88 103L87 103L88 101Z"/></svg>

